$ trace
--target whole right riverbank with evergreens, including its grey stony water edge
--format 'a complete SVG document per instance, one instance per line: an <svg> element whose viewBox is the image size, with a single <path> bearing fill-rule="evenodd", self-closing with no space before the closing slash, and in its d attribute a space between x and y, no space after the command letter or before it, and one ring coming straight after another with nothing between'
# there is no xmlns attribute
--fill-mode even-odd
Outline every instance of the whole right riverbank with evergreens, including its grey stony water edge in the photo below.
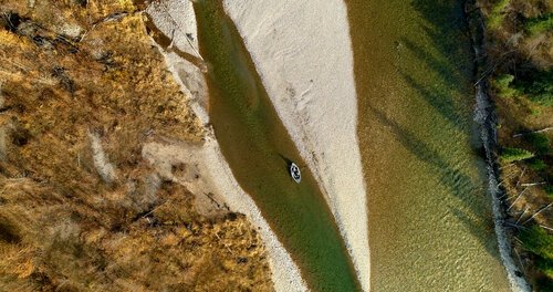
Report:
<svg viewBox="0 0 553 292"><path fill-rule="evenodd" d="M546 23L553 7L540 1L474 2L467 11L477 36L476 86L492 117L486 121L491 140L487 150L495 179L503 260L511 282L515 280L513 288L550 291L553 136L547 131L553 108L547 74L553 55Z"/></svg>

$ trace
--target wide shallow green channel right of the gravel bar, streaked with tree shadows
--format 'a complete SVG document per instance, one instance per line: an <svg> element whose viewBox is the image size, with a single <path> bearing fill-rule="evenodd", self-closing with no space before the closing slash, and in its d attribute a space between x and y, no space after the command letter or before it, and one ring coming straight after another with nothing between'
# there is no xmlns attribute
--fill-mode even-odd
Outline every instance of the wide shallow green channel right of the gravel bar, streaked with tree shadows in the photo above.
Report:
<svg viewBox="0 0 553 292"><path fill-rule="evenodd" d="M372 291L509 291L461 1L346 0Z"/></svg>

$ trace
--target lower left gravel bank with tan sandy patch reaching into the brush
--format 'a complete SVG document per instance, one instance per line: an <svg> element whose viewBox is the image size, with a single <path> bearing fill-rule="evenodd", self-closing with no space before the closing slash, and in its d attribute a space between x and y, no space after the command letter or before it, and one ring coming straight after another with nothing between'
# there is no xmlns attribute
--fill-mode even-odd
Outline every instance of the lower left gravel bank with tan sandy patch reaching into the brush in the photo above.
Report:
<svg viewBox="0 0 553 292"><path fill-rule="evenodd" d="M143 157L152 163L159 175L187 187L196 195L199 211L216 215L225 210L244 213L258 228L269 253L269 264L276 291L306 291L298 265L261 216L254 201L236 181L222 156L217 140L208 134L202 145L148 143ZM175 177L171 166L186 164L184 176Z"/></svg>

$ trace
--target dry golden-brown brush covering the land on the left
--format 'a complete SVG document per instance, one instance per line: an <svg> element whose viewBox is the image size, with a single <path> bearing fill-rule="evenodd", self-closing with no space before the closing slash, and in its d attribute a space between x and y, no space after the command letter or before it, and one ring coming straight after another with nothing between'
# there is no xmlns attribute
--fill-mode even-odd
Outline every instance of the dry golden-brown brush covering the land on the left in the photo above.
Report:
<svg viewBox="0 0 553 292"><path fill-rule="evenodd" d="M272 289L247 219L197 213L142 158L204 135L144 21L129 0L0 0L1 291Z"/></svg>

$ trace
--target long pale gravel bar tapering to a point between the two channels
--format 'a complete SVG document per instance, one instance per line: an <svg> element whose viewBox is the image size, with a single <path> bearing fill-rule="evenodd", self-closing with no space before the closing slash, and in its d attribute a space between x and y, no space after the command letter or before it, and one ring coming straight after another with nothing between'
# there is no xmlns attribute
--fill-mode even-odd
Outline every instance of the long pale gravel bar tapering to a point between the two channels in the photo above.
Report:
<svg viewBox="0 0 553 292"><path fill-rule="evenodd" d="M225 0L276 112L313 170L369 289L366 191L342 0Z"/></svg>

